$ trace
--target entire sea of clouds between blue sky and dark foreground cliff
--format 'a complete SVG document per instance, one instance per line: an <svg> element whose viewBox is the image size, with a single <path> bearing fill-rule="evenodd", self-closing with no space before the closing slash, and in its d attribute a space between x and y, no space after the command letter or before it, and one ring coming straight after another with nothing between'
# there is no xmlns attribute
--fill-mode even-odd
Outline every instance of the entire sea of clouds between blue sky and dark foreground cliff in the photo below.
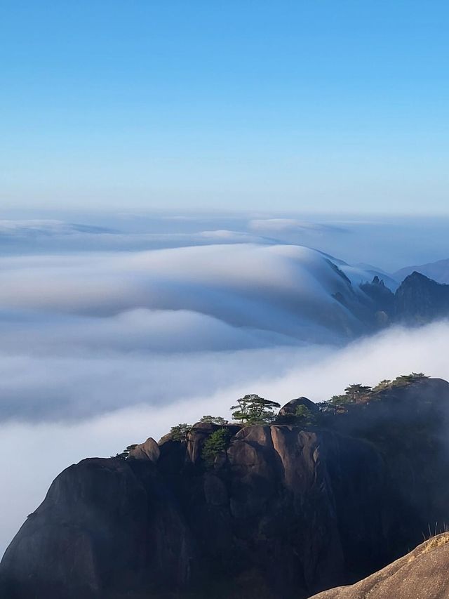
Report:
<svg viewBox="0 0 449 599"><path fill-rule="evenodd" d="M427 223L432 249L411 221L102 218L0 221L0 553L65 466L229 416L245 393L323 400L410 371L449 378L446 322L351 341L332 298L344 281L320 253L350 262L356 285L373 271L358 263L446 258L441 223Z"/></svg>

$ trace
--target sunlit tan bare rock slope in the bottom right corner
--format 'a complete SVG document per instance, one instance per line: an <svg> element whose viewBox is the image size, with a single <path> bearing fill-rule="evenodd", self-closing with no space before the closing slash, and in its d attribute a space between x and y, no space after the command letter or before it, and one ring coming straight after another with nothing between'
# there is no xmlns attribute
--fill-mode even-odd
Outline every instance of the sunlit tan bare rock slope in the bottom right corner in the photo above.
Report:
<svg viewBox="0 0 449 599"><path fill-rule="evenodd" d="M448 567L449 534L443 533L367 579L313 599L442 599L449 597Z"/></svg>

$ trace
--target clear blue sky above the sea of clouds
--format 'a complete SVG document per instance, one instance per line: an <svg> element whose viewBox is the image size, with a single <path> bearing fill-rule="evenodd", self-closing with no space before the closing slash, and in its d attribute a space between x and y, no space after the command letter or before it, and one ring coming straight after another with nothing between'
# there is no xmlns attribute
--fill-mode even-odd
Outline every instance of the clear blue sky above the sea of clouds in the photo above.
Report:
<svg viewBox="0 0 449 599"><path fill-rule="evenodd" d="M449 212L449 4L3 0L3 207Z"/></svg>

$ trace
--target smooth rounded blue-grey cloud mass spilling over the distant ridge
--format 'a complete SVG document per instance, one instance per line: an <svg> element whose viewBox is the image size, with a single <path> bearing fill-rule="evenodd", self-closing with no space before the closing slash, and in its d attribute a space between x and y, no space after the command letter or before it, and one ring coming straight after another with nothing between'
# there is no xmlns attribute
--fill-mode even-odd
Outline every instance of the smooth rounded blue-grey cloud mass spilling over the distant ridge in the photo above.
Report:
<svg viewBox="0 0 449 599"><path fill-rule="evenodd" d="M1 258L0 420L79 419L212 392L234 363L241 380L270 348L289 364L304 343L358 330L333 297L354 289L301 246ZM179 384L167 385L173 371Z"/></svg>

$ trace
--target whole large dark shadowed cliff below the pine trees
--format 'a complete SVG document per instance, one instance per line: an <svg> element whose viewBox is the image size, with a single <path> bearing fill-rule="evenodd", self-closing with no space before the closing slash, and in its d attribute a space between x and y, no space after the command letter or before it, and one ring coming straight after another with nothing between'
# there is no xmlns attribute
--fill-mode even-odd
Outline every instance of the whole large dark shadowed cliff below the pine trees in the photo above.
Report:
<svg viewBox="0 0 449 599"><path fill-rule="evenodd" d="M207 465L208 423L83 460L13 539L0 596L302 599L354 583L449 522L448 411L449 383L422 379L326 426L227 425Z"/></svg>

